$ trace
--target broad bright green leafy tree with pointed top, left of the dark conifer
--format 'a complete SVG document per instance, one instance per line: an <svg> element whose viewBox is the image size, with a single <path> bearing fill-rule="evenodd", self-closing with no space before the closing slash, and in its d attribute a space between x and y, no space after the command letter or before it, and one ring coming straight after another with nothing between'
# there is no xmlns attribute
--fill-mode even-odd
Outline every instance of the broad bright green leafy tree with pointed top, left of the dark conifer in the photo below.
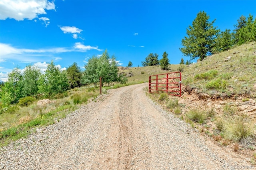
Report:
<svg viewBox="0 0 256 170"><path fill-rule="evenodd" d="M51 99L52 95L61 93L68 89L68 78L66 72L61 72L51 61L48 64L45 74L41 75L38 81L38 89Z"/></svg>

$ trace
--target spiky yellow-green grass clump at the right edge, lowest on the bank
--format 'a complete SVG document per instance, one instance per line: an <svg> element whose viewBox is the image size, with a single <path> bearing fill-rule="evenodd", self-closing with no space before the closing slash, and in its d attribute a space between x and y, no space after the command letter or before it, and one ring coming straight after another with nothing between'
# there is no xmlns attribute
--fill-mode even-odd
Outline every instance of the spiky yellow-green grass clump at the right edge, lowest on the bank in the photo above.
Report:
<svg viewBox="0 0 256 170"><path fill-rule="evenodd" d="M248 117L230 118L224 124L224 136L244 146L255 144L253 122Z"/></svg>

